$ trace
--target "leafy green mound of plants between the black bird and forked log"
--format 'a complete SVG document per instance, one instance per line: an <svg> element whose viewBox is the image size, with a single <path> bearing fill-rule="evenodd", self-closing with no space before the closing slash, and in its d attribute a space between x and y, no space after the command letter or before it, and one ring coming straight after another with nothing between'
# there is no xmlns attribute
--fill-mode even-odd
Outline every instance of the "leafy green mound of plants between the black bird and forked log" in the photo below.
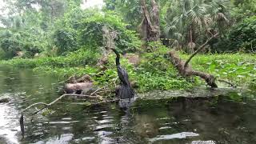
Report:
<svg viewBox="0 0 256 144"><path fill-rule="evenodd" d="M166 54L165 46L152 42L154 50L142 54L142 61L135 70L134 79L138 82L138 91L187 89L192 84L178 76L178 71L172 66ZM161 46L161 47L159 47Z"/></svg>

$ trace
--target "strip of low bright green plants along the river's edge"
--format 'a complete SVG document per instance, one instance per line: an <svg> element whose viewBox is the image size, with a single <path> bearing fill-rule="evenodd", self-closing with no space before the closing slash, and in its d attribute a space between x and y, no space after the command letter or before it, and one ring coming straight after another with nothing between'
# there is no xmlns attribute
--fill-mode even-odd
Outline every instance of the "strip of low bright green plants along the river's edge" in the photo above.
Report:
<svg viewBox="0 0 256 144"><path fill-rule="evenodd" d="M138 92L186 90L193 86L204 85L204 82L199 78L185 79L179 77L177 70L166 58L167 51L166 49L159 49L154 53L139 54L136 65L130 63L127 58L122 58L122 66L126 67L130 81L135 83ZM187 54L180 55L182 58L189 57ZM61 80L72 75L90 74L96 85L103 86L117 78L114 55L110 55L104 71L96 66L98 58L98 53L79 50L65 57L12 59L1 61L0 64L58 74ZM213 74L218 79L233 82L237 86L253 88L256 83L255 59L256 55L253 54L198 54L192 59L191 64L195 70Z"/></svg>

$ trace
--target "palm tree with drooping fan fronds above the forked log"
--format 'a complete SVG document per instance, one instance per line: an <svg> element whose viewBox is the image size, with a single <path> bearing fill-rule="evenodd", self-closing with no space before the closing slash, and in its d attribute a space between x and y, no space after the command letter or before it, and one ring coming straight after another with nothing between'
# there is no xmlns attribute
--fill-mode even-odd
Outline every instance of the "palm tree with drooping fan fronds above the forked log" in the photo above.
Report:
<svg viewBox="0 0 256 144"><path fill-rule="evenodd" d="M228 5L226 0L173 0L166 14L166 35L172 39L172 46L194 47L201 44L211 33L219 33L227 26Z"/></svg>

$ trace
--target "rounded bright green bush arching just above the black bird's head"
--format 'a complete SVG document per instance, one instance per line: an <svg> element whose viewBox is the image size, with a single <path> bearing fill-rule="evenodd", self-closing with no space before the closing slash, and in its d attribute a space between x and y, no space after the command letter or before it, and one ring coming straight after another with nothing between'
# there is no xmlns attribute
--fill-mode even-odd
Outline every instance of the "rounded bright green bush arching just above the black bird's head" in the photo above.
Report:
<svg viewBox="0 0 256 144"><path fill-rule="evenodd" d="M137 34L132 30L127 30L127 24L122 22L122 18L111 12L96 13L82 21L79 27L82 45L103 46L103 26L107 26L110 31L115 31L118 34L115 46L119 50L134 51L141 46Z"/></svg>

